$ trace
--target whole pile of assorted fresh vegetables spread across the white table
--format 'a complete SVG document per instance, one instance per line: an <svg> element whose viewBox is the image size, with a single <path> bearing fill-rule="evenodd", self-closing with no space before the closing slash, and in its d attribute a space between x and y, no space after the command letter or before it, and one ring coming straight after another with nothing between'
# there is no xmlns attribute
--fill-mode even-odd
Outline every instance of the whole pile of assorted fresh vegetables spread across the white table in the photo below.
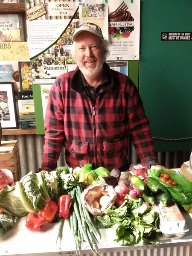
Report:
<svg viewBox="0 0 192 256"><path fill-rule="evenodd" d="M143 166L131 168L132 172L113 169L110 173L103 167L93 170L90 163L75 169L64 166L52 172L29 173L13 186L2 185L0 235L27 215L26 228L32 231L43 230L46 222L59 221L58 238L66 220L79 254L83 242L98 253L100 234L96 228L113 228L114 241L120 245L158 244L155 195L164 206L174 198L192 212L192 183L169 169L152 170L147 177Z"/></svg>

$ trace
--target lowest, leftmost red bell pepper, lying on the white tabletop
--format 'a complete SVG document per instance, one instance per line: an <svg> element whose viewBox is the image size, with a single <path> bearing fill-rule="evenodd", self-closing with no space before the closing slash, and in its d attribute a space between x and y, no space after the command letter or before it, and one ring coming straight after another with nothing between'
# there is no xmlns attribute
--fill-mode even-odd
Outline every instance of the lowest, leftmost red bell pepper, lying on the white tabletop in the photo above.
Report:
<svg viewBox="0 0 192 256"><path fill-rule="evenodd" d="M41 231L44 228L46 221L41 215L35 212L29 212L26 218L26 228L32 231Z"/></svg>

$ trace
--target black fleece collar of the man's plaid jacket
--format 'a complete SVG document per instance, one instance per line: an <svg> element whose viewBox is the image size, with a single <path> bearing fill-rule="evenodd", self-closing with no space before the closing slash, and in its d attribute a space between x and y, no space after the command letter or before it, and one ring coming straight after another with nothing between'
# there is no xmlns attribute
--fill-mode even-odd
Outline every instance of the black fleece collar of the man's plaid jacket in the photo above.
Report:
<svg viewBox="0 0 192 256"><path fill-rule="evenodd" d="M104 86L102 87L102 91L106 91L114 86L114 78L111 69L106 62L104 62L103 68L105 74L107 73L108 83L103 84ZM78 93L82 93L84 91L84 84L81 77L81 71L79 70L78 66L76 67L76 70L70 81L70 87Z"/></svg>

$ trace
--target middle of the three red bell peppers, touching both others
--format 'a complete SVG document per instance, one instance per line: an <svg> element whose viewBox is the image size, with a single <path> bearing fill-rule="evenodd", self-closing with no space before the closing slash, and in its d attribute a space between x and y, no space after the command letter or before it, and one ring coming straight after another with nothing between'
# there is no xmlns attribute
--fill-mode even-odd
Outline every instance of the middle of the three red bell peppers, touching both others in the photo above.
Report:
<svg viewBox="0 0 192 256"><path fill-rule="evenodd" d="M49 201L47 205L39 211L39 215L50 223L54 219L57 211L58 205L55 202Z"/></svg>

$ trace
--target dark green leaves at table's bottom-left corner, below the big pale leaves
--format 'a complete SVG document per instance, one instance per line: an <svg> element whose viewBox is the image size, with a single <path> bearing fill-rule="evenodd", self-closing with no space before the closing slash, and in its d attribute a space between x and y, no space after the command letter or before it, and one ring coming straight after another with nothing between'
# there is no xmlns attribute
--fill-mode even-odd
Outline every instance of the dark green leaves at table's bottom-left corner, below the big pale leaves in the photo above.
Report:
<svg viewBox="0 0 192 256"><path fill-rule="evenodd" d="M15 226L18 217L2 213L0 214L0 235L3 235L6 230Z"/></svg>

